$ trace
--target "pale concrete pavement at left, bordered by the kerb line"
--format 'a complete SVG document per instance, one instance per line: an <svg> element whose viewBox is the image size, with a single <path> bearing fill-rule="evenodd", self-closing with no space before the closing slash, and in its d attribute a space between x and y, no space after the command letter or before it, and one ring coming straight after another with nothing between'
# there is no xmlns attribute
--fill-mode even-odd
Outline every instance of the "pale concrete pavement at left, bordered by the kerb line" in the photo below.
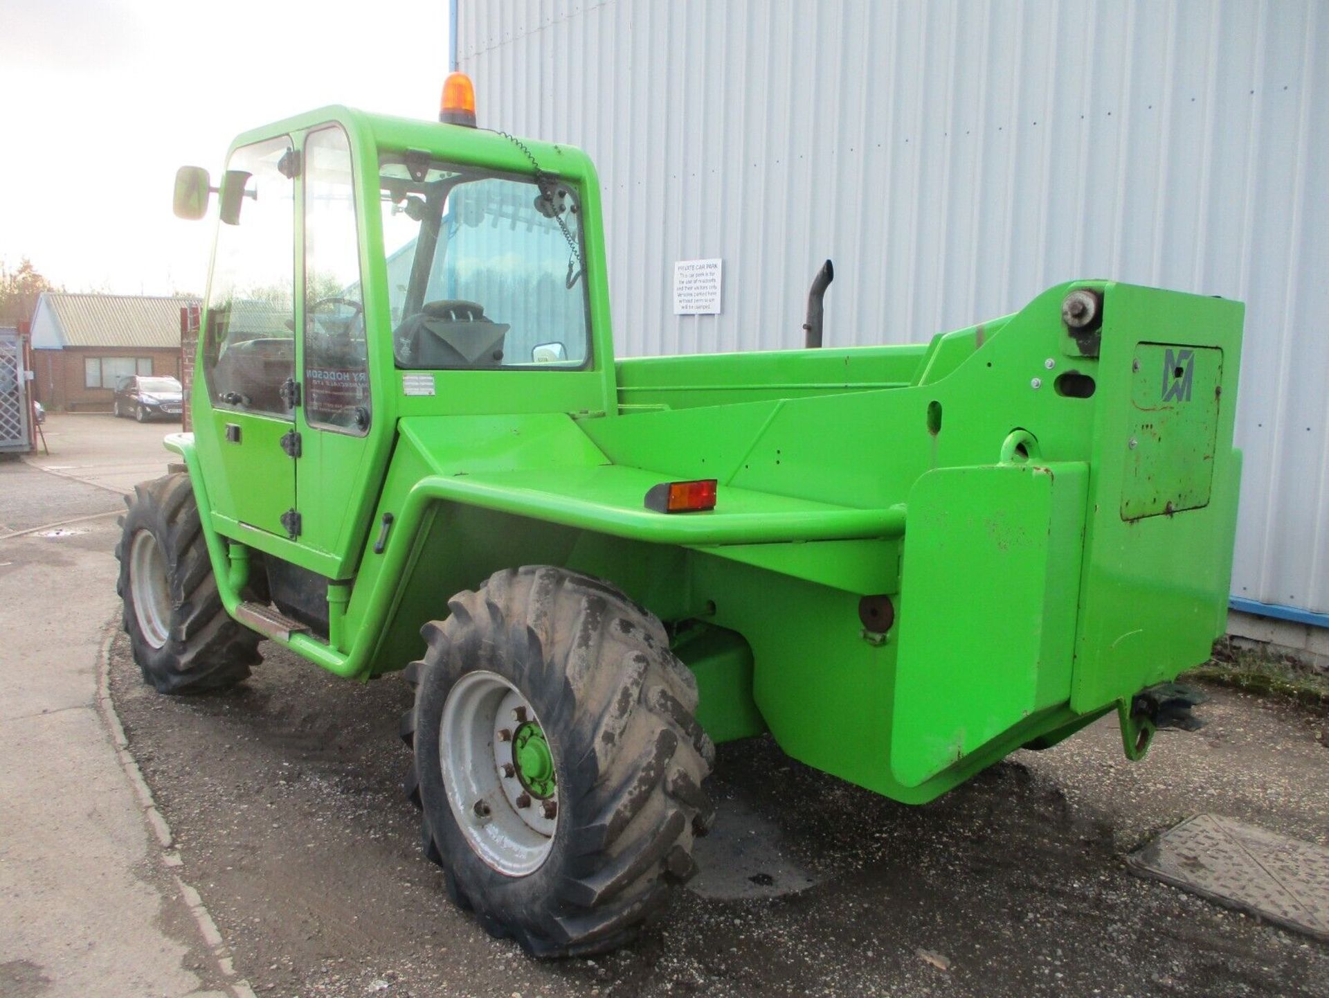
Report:
<svg viewBox="0 0 1329 998"><path fill-rule="evenodd" d="M0 509L68 508L86 486L23 464ZM120 498L94 490L104 505ZM225 986L159 861L97 711L117 611L118 529L0 538L0 994L191 995Z"/></svg>

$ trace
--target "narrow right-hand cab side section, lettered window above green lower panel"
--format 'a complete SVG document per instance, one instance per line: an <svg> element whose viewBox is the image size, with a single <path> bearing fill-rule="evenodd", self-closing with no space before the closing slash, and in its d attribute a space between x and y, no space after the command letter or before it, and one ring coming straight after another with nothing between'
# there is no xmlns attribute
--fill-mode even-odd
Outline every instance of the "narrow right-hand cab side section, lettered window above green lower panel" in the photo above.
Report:
<svg viewBox="0 0 1329 998"><path fill-rule="evenodd" d="M377 494L367 484L373 405L355 171L340 125L308 132L303 151L300 544L344 575Z"/></svg>

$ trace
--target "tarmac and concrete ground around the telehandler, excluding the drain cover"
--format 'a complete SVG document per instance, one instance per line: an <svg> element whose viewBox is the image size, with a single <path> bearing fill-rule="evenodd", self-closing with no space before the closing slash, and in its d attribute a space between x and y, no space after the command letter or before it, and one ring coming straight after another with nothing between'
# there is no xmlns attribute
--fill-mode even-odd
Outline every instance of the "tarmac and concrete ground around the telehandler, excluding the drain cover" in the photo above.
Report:
<svg viewBox="0 0 1329 998"><path fill-rule="evenodd" d="M239 687L163 698L118 637L110 692L170 825L179 865L166 868L94 710L114 518L12 534L118 508L54 473L112 489L152 477L163 427L54 429L69 436L53 435L51 461L73 468L0 465L0 599L17 634L0 649L7 998L234 987L175 876L259 995L1329 994L1329 946L1124 865L1197 812L1329 845L1326 719L1223 690L1201 708L1208 727L1164 732L1143 763L1100 722L921 808L769 739L723 746L703 873L635 945L541 963L453 908L420 856L399 788L399 676L359 686L264 646Z"/></svg>

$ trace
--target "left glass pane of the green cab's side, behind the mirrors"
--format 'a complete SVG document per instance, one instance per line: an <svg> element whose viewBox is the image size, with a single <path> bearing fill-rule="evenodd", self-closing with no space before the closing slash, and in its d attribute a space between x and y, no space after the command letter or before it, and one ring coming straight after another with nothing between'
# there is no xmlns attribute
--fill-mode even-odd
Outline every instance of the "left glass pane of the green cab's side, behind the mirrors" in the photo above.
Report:
<svg viewBox="0 0 1329 998"><path fill-rule="evenodd" d="M290 419L295 371L295 191L288 138L237 149L247 173L235 225L221 223L207 292L203 377L213 404Z"/></svg>

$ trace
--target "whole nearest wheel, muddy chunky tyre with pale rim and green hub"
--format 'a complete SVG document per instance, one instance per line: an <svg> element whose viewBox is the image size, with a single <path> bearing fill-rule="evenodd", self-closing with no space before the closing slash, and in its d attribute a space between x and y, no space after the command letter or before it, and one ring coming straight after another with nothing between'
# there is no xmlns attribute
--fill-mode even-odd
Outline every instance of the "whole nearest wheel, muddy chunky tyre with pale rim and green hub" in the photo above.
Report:
<svg viewBox="0 0 1329 998"><path fill-rule="evenodd" d="M534 955L627 942L696 870L711 821L696 680L659 621L587 575L498 571L448 607L401 727L425 854Z"/></svg>

